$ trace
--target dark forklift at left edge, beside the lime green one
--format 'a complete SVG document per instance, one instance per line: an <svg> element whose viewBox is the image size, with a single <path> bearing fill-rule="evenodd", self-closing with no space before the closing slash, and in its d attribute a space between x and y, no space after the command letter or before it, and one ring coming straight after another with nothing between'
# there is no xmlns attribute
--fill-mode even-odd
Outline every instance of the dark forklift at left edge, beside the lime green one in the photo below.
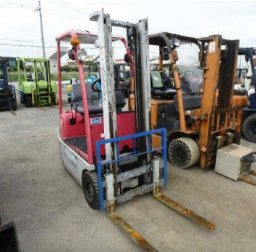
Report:
<svg viewBox="0 0 256 252"><path fill-rule="evenodd" d="M0 57L0 110L16 110L17 99L15 86L9 84L8 67L16 65L15 58Z"/></svg>

